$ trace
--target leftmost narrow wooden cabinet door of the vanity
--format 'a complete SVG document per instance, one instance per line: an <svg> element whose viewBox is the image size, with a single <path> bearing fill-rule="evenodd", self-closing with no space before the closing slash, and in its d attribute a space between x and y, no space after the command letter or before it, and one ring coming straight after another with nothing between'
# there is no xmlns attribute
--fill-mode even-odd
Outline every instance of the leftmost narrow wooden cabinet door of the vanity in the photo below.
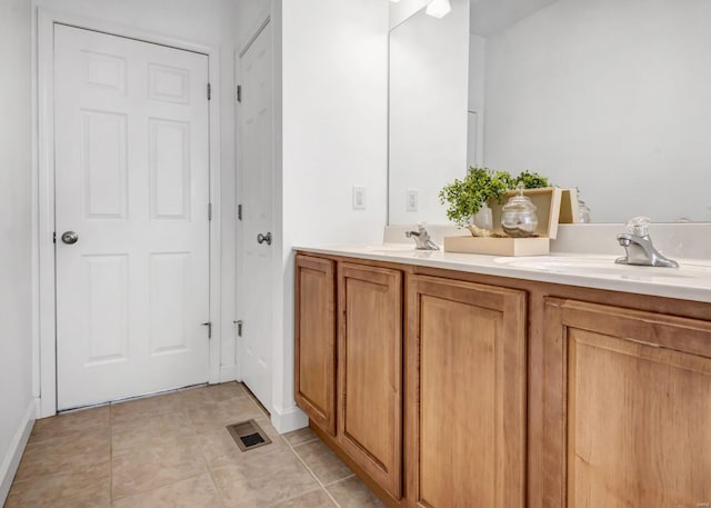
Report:
<svg viewBox="0 0 711 508"><path fill-rule="evenodd" d="M297 256L296 401L336 436L334 262Z"/></svg>

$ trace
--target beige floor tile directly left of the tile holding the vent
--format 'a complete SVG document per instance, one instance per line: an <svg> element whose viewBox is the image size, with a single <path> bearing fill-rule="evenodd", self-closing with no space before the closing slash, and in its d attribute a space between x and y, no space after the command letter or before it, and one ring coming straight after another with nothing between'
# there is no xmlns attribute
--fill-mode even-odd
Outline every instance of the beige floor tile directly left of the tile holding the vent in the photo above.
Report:
<svg viewBox="0 0 711 508"><path fill-rule="evenodd" d="M113 499L142 494L207 471L196 437L112 457Z"/></svg>

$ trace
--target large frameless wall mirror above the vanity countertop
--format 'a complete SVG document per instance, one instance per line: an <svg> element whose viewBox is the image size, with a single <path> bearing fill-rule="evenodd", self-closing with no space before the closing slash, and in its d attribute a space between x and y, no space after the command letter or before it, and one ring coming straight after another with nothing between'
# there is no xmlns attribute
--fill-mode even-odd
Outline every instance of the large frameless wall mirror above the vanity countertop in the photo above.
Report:
<svg viewBox="0 0 711 508"><path fill-rule="evenodd" d="M711 2L451 3L391 30L391 225L447 223L437 195L474 162L577 187L595 222L711 221Z"/></svg>

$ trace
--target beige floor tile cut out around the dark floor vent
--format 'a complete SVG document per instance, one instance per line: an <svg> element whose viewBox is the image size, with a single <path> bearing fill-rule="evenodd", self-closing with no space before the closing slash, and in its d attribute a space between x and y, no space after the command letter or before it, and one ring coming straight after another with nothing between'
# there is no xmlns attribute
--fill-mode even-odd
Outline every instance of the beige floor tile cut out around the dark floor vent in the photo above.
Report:
<svg viewBox="0 0 711 508"><path fill-rule="evenodd" d="M281 451L282 449L288 449L284 440L279 436L269 421L264 419L254 421L257 421L257 425L264 430L267 436L271 439L271 444L248 451L242 451L226 428L199 435L198 440L200 441L200 447L202 448L202 454L208 462L208 467L217 469L231 464L252 460L263 455Z"/></svg>

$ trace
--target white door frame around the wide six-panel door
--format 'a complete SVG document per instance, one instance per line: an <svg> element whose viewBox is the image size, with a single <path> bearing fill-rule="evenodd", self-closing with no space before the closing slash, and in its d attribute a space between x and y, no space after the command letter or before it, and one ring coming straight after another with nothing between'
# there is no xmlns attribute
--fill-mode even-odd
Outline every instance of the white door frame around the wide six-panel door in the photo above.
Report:
<svg viewBox="0 0 711 508"><path fill-rule="evenodd" d="M212 203L210 221L209 308L212 340L209 341L208 382L220 382L220 54L217 48L121 24L84 18L49 9L37 10L37 53L32 81L36 87L33 122L36 128L37 171L33 175L32 238L33 260L33 375L34 396L39 397L38 417L57 414L57 292L54 269L54 24L103 32L112 36L192 51L208 57L208 79L212 94L209 114L209 192ZM207 91L206 91L207 92ZM206 210L207 213L207 210Z"/></svg>

